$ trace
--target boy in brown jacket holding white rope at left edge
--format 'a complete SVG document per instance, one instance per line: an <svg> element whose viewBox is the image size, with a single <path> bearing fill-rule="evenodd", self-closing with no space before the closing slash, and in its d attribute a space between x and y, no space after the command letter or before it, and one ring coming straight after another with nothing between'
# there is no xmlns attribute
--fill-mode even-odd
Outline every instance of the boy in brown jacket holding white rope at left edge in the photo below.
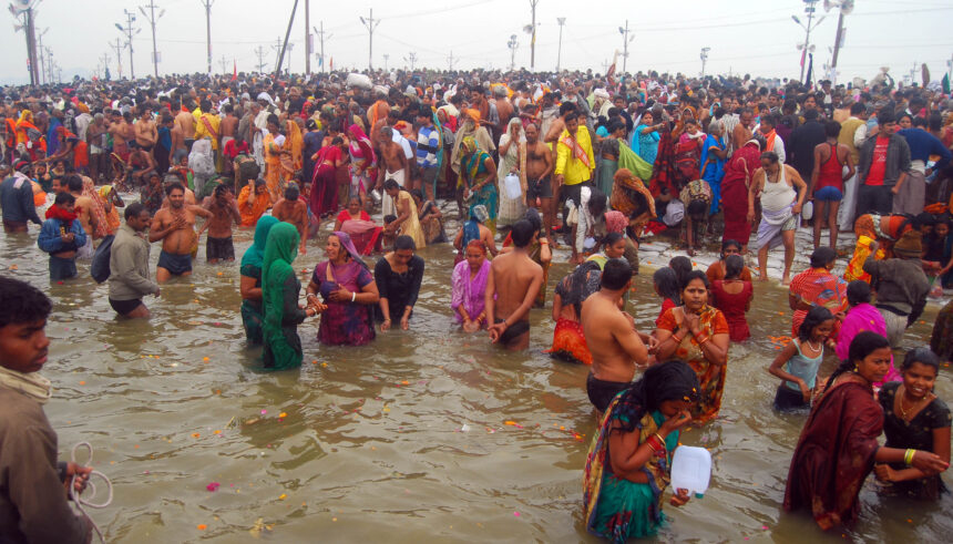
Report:
<svg viewBox="0 0 953 544"><path fill-rule="evenodd" d="M70 509L66 490L75 475L82 491L92 469L57 463L57 433L43 413L51 307L35 287L0 276L0 542L90 542L92 527Z"/></svg>

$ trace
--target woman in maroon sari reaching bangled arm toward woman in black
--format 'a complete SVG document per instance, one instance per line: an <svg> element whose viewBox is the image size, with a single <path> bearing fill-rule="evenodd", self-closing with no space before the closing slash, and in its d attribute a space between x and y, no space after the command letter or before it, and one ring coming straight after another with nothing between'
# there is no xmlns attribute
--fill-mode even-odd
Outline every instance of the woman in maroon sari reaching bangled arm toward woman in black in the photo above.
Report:
<svg viewBox="0 0 953 544"><path fill-rule="evenodd" d="M850 343L850 355L828 379L814 402L791 459L785 510L811 509L827 531L857 520L858 495L877 463L905 463L926 474L947 468L935 453L881 448L883 410L873 399L871 383L890 368L890 342L864 331Z"/></svg>

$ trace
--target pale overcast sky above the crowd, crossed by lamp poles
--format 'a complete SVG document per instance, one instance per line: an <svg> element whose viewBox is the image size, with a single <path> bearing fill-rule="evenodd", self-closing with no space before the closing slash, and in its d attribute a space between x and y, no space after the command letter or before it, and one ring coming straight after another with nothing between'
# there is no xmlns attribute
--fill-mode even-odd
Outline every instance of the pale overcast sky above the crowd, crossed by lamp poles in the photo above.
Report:
<svg viewBox="0 0 953 544"><path fill-rule="evenodd" d="M109 55L115 78L119 68L115 39L124 35L115 23L125 23L124 9L135 11L134 28L142 31L133 38L135 74L152 73L152 37L147 19L139 11L148 0L41 0L37 8L37 29L43 45L50 48L62 68L63 79L89 75ZM290 69L305 69L305 10L299 0L291 28ZM161 53L160 73L206 70L205 9L203 0L155 0L165 14L157 21L156 40ZM4 2L7 3L7 2ZM212 6L213 71L227 72L233 60L239 71L255 70L257 48L264 51L266 70L276 61L275 43L284 37L295 0L214 0ZM373 8L380 24L373 33L375 68L409 65L416 53L416 65L449 66L452 51L454 68L504 68L510 64L506 41L516 34L518 66L530 66L530 37L523 27L530 23L530 0L447 0L443 2L385 2L380 0L310 0L310 23L324 22L325 55L335 68L363 69L368 61L368 32L359 16L368 18ZM264 7L268 7L264 10ZM434 8L428 9L428 6ZM94 8L93 8L94 7ZM407 7L407 11L401 11ZM691 9L685 9L690 7ZM800 53L796 45L805 31L791 20L806 21L801 0L711 0L707 2L603 0L581 2L539 0L536 8L535 66L553 70L559 51L557 18L565 18L562 39L562 68L593 69L604 72L615 50L622 50L618 31L628 19L629 43L627 70L679 71L697 74L701 70L699 51L711 48L707 73L751 73L764 76L793 76L800 73ZM156 13L158 10L156 11ZM823 14L822 2L818 14ZM9 11L0 30L3 54L0 55L0 83L29 81L25 68L27 48L22 31ZM811 33L817 45L816 70L830 62L837 12L832 11ZM879 66L890 66L894 78L909 74L913 63L925 62L934 79L947 70L953 53L953 0L857 0L844 19L848 29L838 60L839 80L854 76L870 79ZM315 53L319 48L314 37ZM110 45L112 43L113 45ZM312 54L311 70L318 71ZM622 70L619 58L619 66ZM122 51L122 73L129 75L129 50ZM919 64L916 80L920 80Z"/></svg>

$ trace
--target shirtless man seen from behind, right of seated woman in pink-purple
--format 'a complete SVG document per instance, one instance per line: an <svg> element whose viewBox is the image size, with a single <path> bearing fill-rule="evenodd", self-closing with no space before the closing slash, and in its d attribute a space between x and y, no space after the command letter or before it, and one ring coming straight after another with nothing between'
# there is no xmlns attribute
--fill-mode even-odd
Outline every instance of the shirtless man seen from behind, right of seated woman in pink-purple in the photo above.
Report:
<svg viewBox="0 0 953 544"><path fill-rule="evenodd" d="M536 237L533 224L520 219L513 225L513 250L490 264L486 278L486 322L490 340L516 351L530 347L530 308L543 285L543 267L530 258L527 248Z"/></svg>

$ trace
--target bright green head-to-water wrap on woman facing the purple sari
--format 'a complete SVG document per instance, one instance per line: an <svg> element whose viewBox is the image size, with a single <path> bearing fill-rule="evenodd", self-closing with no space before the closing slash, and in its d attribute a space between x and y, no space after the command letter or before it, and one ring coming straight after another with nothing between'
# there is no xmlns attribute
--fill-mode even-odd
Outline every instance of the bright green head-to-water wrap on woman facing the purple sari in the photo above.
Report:
<svg viewBox="0 0 953 544"><path fill-rule="evenodd" d="M298 255L300 237L290 223L277 223L268 233L265 259L262 269L262 296L265 309L265 349L271 352L274 369L296 367L301 363L298 352L283 331L285 318L285 283L295 276L291 263Z"/></svg>

